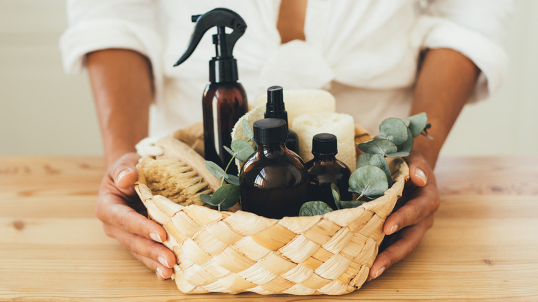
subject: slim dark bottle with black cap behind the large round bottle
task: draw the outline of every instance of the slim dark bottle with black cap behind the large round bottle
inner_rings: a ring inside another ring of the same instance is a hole
[[[267,89],[266,118],[283,119],[288,124],[288,112],[284,106],[284,97],[281,86],[271,86]],[[286,147],[295,153],[299,153],[299,136],[290,129],[288,124],[288,136],[286,137]]]

